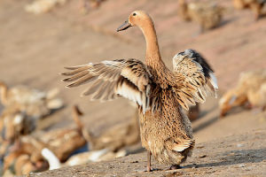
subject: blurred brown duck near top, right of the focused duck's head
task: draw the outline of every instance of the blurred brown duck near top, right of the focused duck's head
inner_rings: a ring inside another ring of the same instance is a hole
[[[178,0],[178,15],[184,21],[200,24],[200,32],[218,27],[223,19],[224,8],[214,2],[190,2]]]

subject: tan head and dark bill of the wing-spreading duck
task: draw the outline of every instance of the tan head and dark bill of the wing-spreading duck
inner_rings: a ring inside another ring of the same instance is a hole
[[[126,20],[120,27],[117,28],[117,32],[128,29],[129,27],[143,28],[145,25],[153,23],[151,17],[144,11],[135,11],[129,15],[129,19]]]

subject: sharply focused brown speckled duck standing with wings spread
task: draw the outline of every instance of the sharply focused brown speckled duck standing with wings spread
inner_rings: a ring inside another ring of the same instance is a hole
[[[129,58],[66,67],[70,72],[62,73],[68,76],[63,81],[72,81],[68,88],[87,84],[89,87],[82,95],[91,95],[92,99],[124,96],[136,102],[141,141],[148,151],[147,171],[152,170],[152,154],[160,163],[177,168],[192,154],[195,143],[183,108],[204,102],[207,91],[217,87],[213,77],[208,77],[211,71],[204,73],[204,65],[186,53],[174,57],[174,73],[168,69],[160,58],[153,20],[146,12],[132,12],[117,31],[134,26],[145,35],[145,63]],[[214,85],[208,90],[211,84]]]

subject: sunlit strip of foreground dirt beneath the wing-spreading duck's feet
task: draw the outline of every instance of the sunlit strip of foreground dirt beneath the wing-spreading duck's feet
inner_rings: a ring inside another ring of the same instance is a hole
[[[30,176],[266,176],[265,136],[265,129],[257,129],[243,135],[199,143],[192,158],[188,158],[184,168],[178,170],[167,170],[168,166],[157,165],[153,161],[153,167],[157,170],[144,172],[146,154],[143,152],[101,163],[31,173]]]

